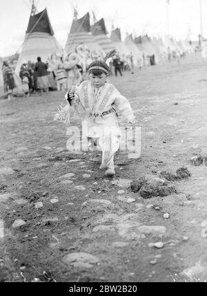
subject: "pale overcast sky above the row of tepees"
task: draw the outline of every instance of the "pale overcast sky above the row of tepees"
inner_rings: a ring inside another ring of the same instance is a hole
[[[204,35],[207,37],[207,0],[202,1]],[[97,19],[104,17],[126,33],[164,35],[167,33],[166,0],[36,0],[37,10],[48,8],[55,37],[65,46],[72,23],[72,4],[79,17],[94,10]],[[191,39],[200,33],[199,0],[170,0],[170,34]],[[30,17],[30,0],[0,0],[0,56],[12,55],[23,43]]]

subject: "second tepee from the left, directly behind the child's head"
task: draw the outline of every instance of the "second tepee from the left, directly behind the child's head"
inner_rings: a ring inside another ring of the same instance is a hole
[[[71,53],[79,46],[79,44],[85,44],[88,49],[102,53],[101,46],[97,43],[92,33],[90,32],[90,14],[86,13],[81,19],[73,19],[70,33],[68,34],[68,40],[66,42],[65,53]]]

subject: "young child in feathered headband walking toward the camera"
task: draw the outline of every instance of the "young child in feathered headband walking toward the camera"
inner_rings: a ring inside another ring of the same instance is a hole
[[[128,124],[135,122],[128,100],[107,80],[110,71],[107,62],[112,55],[115,55],[114,51],[108,53],[104,61],[92,62],[88,67],[89,80],[66,94],[71,106],[81,104],[85,111],[84,124],[88,124],[85,136],[91,145],[98,140],[102,150],[100,169],[106,169],[107,177],[115,176],[114,156],[121,142],[117,112]]]

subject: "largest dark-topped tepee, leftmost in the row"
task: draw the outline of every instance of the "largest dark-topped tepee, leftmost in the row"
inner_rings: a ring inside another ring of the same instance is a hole
[[[41,57],[42,61],[46,62],[52,53],[62,55],[62,49],[55,39],[48,12],[45,9],[36,15],[30,15],[26,37],[15,72],[19,75],[19,70],[24,61],[37,62],[37,57]]]

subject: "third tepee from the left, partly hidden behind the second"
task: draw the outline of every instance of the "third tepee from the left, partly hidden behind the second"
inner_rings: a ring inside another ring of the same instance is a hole
[[[112,41],[107,36],[108,31],[106,29],[104,19],[100,19],[94,25],[92,25],[91,32],[92,35],[95,37],[95,40],[99,43],[105,53],[108,53],[108,51],[115,49]]]

